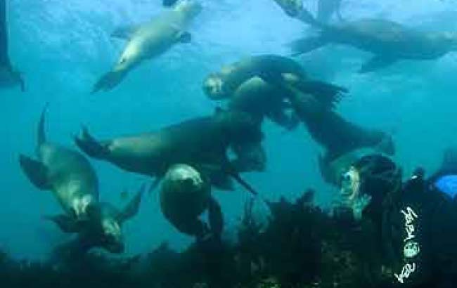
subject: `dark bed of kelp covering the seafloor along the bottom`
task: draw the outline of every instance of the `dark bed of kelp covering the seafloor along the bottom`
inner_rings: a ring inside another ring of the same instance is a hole
[[[210,237],[184,251],[163,243],[143,255],[112,257],[91,251],[54,255],[44,263],[15,261],[0,252],[0,286],[385,287],[378,250],[363,233],[372,231],[335,221],[313,204],[313,195],[309,190],[293,202],[266,202],[271,213],[265,227],[255,221],[251,199],[236,242]]]

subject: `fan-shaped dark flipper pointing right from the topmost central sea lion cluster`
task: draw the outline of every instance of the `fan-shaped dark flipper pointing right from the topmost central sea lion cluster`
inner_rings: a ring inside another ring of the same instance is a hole
[[[316,96],[318,100],[326,107],[333,108],[337,103],[340,102],[344,93],[348,90],[342,86],[336,86],[323,81],[300,81],[297,84],[297,88],[303,93],[309,93]]]

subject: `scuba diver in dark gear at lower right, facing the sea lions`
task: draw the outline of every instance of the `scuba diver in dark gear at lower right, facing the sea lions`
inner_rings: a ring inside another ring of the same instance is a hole
[[[389,287],[455,287],[457,150],[429,178],[416,169],[403,183],[401,174],[388,157],[357,159],[341,176],[335,217],[371,234]]]

